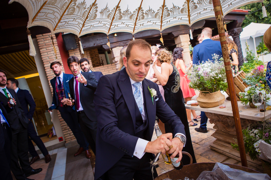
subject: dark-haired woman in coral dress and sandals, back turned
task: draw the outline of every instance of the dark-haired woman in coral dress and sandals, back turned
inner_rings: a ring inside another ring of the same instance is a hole
[[[187,79],[187,77],[185,77],[185,71],[187,71],[188,69],[192,67],[192,63],[189,65],[188,68],[186,68],[184,60],[183,60],[183,49],[181,47],[176,47],[173,50],[172,55],[173,55],[172,62],[173,64],[175,64],[180,74],[180,86],[182,89],[183,97],[185,98],[185,102],[191,101],[192,97],[195,96],[196,94],[195,94],[194,89],[190,88],[188,85],[189,80]],[[192,122],[191,112],[193,114],[194,121],[198,121],[197,119],[200,119],[201,117],[196,115],[195,110],[186,109],[188,124],[191,126],[196,126],[198,124],[195,124],[194,122]]]

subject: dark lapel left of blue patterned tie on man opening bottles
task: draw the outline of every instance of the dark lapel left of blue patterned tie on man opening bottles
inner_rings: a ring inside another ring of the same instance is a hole
[[[126,70],[123,70],[120,72],[120,76],[119,76],[119,79],[117,79],[117,82],[120,87],[120,91],[123,95],[123,98],[127,104],[129,112],[132,116],[134,129],[136,131],[136,110],[135,110],[135,103],[134,103],[135,98],[133,95],[131,81]]]

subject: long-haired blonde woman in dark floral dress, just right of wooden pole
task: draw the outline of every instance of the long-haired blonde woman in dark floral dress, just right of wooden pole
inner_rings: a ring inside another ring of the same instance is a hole
[[[238,47],[235,44],[235,42],[233,40],[231,40],[230,38],[226,38],[227,43],[228,43],[228,49],[229,49],[229,58],[231,60],[231,64],[232,64],[232,69],[234,70],[234,73],[238,73]]]

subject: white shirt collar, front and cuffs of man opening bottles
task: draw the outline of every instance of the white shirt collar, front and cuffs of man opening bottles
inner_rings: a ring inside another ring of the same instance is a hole
[[[129,78],[130,78],[130,77],[129,77]],[[133,83],[135,83],[136,81],[132,80],[131,78],[130,78],[130,81],[131,81],[132,90],[133,90],[133,94],[134,94],[136,88],[134,87]],[[142,103],[142,104],[143,104],[143,109],[142,109],[141,116],[142,116],[143,121],[145,122],[145,120],[146,120],[146,114],[145,114],[145,111],[144,111],[144,99],[143,99],[143,87],[142,87],[142,81],[140,81],[140,84],[141,84],[141,85],[140,85],[141,99],[142,99],[142,101],[143,101],[143,103]],[[185,135],[182,134],[182,133],[176,133],[175,136],[176,136],[176,135],[182,135],[182,136],[185,137]],[[186,137],[185,137],[185,140],[186,140]],[[147,146],[148,142],[149,142],[149,141],[147,141],[147,140],[138,138],[138,140],[137,140],[137,142],[136,142],[136,147],[135,147],[135,151],[134,151],[133,155],[136,156],[137,158],[141,159],[141,158],[145,155],[145,152],[144,152],[144,151],[145,151],[145,149],[146,149],[146,146]],[[184,144],[183,147],[185,147],[185,144]]]

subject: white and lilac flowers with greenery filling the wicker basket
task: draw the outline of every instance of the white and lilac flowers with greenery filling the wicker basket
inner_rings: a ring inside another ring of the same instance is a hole
[[[219,55],[216,54],[212,56],[212,61],[208,59],[209,61],[193,65],[193,68],[188,70],[186,76],[190,80],[190,88],[209,92],[226,91],[228,84],[223,58],[219,59]]]

